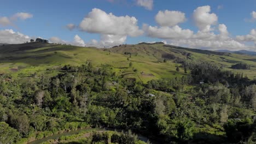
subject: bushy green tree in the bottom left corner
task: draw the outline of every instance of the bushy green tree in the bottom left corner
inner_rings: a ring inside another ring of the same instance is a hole
[[[0,122],[0,143],[8,144],[14,143],[14,141],[18,138],[19,132],[9,127],[9,125],[5,122]]]

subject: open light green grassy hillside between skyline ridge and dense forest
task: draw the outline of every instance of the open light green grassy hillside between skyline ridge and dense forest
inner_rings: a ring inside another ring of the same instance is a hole
[[[132,53],[130,61],[127,61],[129,55],[124,55],[124,52]],[[241,61],[246,62],[252,65],[251,70],[233,71],[235,73],[244,73],[248,77],[254,78],[256,70],[254,59],[256,57],[235,53],[185,49],[164,44],[121,45],[111,49],[40,43],[0,46],[0,72],[10,72],[14,76],[18,76],[20,73],[30,75],[41,73],[42,70],[48,68],[54,69],[65,64],[79,65],[91,60],[94,65],[109,64],[120,75],[147,82],[161,77],[172,78],[185,75],[182,68],[179,72],[176,71],[175,66],[177,64],[173,63],[173,59],[170,59],[167,63],[162,63],[161,61],[166,56],[186,58],[188,53],[190,53],[189,57],[195,61],[217,63],[219,66],[223,65],[224,69],[229,69],[232,64]],[[251,61],[248,61],[248,59]],[[129,67],[130,62],[132,62],[132,67]],[[10,70],[18,67],[18,72]],[[133,68],[137,69],[137,72],[134,72]],[[141,74],[142,71],[144,74]]]

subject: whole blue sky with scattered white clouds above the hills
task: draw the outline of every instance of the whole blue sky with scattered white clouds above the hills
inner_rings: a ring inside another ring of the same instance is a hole
[[[0,43],[256,51],[255,0],[0,0]]]

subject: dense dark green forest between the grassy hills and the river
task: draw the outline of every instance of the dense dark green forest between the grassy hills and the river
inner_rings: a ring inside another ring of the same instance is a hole
[[[255,80],[206,62],[185,61],[179,69],[189,74],[147,83],[90,61],[57,75],[1,74],[0,143],[89,127],[131,130],[160,143],[255,142]],[[133,137],[115,134],[111,141],[136,143]],[[106,139],[95,134],[90,142]]]

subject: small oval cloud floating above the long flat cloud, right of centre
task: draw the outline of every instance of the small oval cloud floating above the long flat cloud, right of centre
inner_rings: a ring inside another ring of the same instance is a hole
[[[155,16],[155,21],[160,26],[175,26],[178,23],[182,23],[186,20],[185,14],[181,11],[159,11]]]

